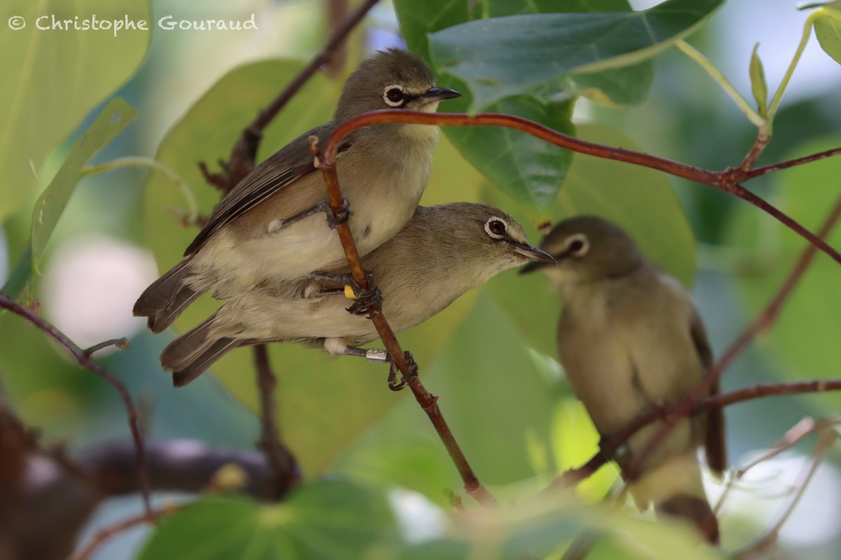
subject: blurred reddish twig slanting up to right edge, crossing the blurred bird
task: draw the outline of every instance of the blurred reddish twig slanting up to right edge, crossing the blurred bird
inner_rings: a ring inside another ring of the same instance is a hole
[[[818,236],[825,238],[835,227],[839,217],[841,217],[841,199],[836,201],[832,211],[829,212],[828,217],[823,222],[823,225],[818,232]],[[748,345],[753,342],[757,335],[759,335],[759,332],[763,332],[774,323],[776,317],[780,313],[780,310],[785,305],[785,302],[788,301],[788,297],[791,296],[791,292],[800,282],[801,278],[809,268],[809,265],[812,264],[816,254],[817,248],[814,245],[807,245],[806,249],[803,250],[794,267],[791,269],[788,277],[780,286],[780,290],[777,291],[776,295],[771,299],[769,304],[765,306],[764,310],[759,313],[759,317],[756,317],[754,322],[730,345],[730,348],[727,348],[727,351],[720,359],[718,359],[717,363],[713,364],[713,366],[707,370],[706,374],[704,374],[704,377],[701,378],[701,381],[696,385],[695,389],[692,390],[690,395],[680,401],[678,406],[675,407],[673,415],[666,419],[664,426],[661,427],[659,431],[656,432],[648,441],[646,447],[643,448],[643,453],[639,453],[637,457],[634,458],[632,465],[626,472],[627,480],[632,481],[639,476],[642,471],[643,462],[646,458],[648,458],[648,455],[652,453],[666,437],[668,437],[669,432],[671,432],[672,429],[674,429],[674,426],[676,426],[677,419],[690,415],[691,411],[695,408],[695,403],[704,399],[706,395],[709,395],[710,388],[717,384],[718,380],[722,377],[722,373],[730,364],[733,363],[733,360],[735,360],[746,348],[748,348]]]

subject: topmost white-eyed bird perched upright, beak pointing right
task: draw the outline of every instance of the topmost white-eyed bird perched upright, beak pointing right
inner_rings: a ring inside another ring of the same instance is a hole
[[[434,113],[438,102],[459,95],[436,87],[421,57],[405,50],[384,50],[364,60],[348,77],[333,120],[301,134],[234,186],[184,259],[146,288],[135,316],[148,317],[151,331],[161,332],[207,290],[227,299],[264,280],[299,280],[339,266],[344,252],[338,235],[325,212],[315,212],[326,188],[309,137],[323,145],[339,124],[360,113],[384,108]],[[436,127],[408,123],[361,128],[342,141],[336,171],[351,205],[349,225],[360,254],[409,221],[437,142]]]

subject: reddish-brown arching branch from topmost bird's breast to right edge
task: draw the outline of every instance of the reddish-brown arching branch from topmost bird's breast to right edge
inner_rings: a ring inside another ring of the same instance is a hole
[[[704,170],[694,165],[686,165],[674,160],[667,160],[656,155],[643,154],[632,149],[615,148],[604,144],[595,144],[586,140],[577,139],[568,134],[559,133],[552,128],[535,123],[527,118],[516,117],[501,113],[477,113],[469,116],[464,113],[424,113],[422,111],[409,111],[406,109],[380,109],[362,113],[356,117],[347,119],[341,123],[324,145],[324,158],[326,161],[336,160],[336,151],[339,148],[341,139],[358,128],[363,128],[377,123],[417,123],[437,124],[443,126],[501,126],[514,128],[531,134],[532,136],[555,144],[562,148],[570,149],[579,154],[593,155],[606,160],[623,161],[634,165],[642,165],[653,170],[664,171],[669,175],[682,177],[689,181],[695,181],[701,185],[711,186],[718,191],[724,191],[738,196],[759,207],[764,212],[791,228],[809,243],[828,254],[838,264],[841,264],[841,254],[830,247],[821,236],[803,228],[799,222],[787,216],[776,207],[772,206],[758,195],[748,191],[741,186],[743,172],[738,169],[727,169],[723,171]]]

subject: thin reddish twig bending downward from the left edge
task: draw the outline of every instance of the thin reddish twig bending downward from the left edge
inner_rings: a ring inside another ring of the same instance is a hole
[[[66,348],[67,352],[71,353],[73,358],[77,360],[80,366],[93,371],[94,374],[97,374],[102,379],[105,379],[105,381],[108,382],[109,385],[111,385],[112,387],[114,387],[114,389],[117,390],[120,399],[123,400],[125,411],[129,416],[129,427],[131,429],[131,437],[132,440],[135,442],[135,451],[137,452],[138,466],[137,476],[138,479],[140,479],[140,494],[143,496],[143,508],[145,510],[146,515],[154,517],[154,513],[151,509],[149,471],[146,468],[143,436],[140,433],[137,409],[135,409],[135,405],[131,400],[129,390],[125,387],[122,381],[117,379],[117,377],[114,374],[109,372],[107,369],[103,368],[97,362],[93,361],[93,359],[91,359],[91,357],[87,355],[85,351],[82,350],[82,348],[79,348],[76,343],[71,341],[70,338],[67,338],[64,332],[58,330],[50,322],[47,322],[44,318],[34,313],[34,311],[30,310],[28,307],[20,305],[19,303],[13,301],[3,293],[0,293],[0,307],[4,307],[5,309],[12,311],[15,315],[23,317],[25,320],[31,322],[35,327],[40,328],[40,330],[44,331],[50,338],[52,338],[57,343],[61,344],[61,346]]]

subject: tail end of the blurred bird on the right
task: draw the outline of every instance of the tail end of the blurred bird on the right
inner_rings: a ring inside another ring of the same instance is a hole
[[[637,505],[653,502],[658,515],[689,521],[707,542],[718,544],[718,521],[706,499],[695,449],[648,468],[630,490]]]

